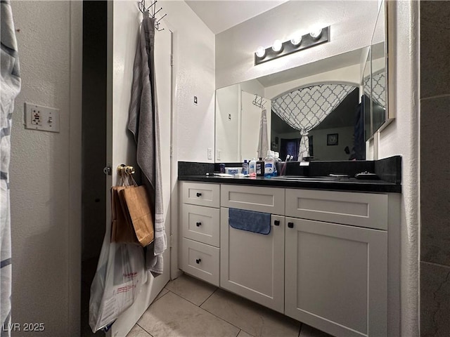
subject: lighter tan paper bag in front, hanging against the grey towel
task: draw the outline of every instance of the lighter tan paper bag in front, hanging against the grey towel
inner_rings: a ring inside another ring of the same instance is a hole
[[[146,187],[125,188],[120,190],[119,195],[124,213],[133,224],[139,243],[143,247],[148,246],[153,242],[155,232]]]

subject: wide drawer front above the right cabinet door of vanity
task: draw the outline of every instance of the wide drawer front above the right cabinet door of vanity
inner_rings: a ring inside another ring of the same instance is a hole
[[[387,230],[387,194],[286,189],[286,216]]]

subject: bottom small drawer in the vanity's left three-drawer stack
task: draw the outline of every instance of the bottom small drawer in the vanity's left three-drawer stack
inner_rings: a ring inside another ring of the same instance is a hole
[[[183,238],[182,269],[189,275],[219,286],[219,249]]]

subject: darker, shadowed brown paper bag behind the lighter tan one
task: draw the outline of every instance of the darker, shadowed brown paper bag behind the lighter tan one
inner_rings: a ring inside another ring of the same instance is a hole
[[[139,244],[139,240],[134,232],[133,224],[124,209],[120,201],[119,192],[128,189],[136,188],[134,186],[114,186],[111,188],[111,242],[127,242],[133,244]]]

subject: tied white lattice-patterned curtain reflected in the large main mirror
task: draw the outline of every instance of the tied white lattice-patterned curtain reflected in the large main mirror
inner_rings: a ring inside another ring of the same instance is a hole
[[[272,110],[278,117],[300,131],[298,160],[309,157],[309,131],[321,124],[355,88],[347,84],[317,84],[285,93],[272,101]]]

